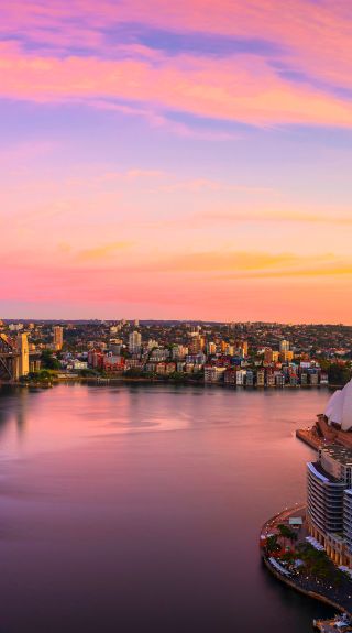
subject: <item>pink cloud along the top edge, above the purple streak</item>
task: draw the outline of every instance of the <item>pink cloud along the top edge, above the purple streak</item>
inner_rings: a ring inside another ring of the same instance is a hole
[[[4,34],[58,47],[79,42],[106,56],[116,44],[106,42],[103,30],[118,24],[266,40],[282,47],[282,59],[292,69],[352,85],[351,7],[344,0],[101,0],[99,8],[94,0],[18,0],[2,7],[1,18]],[[138,54],[153,53],[135,44]]]

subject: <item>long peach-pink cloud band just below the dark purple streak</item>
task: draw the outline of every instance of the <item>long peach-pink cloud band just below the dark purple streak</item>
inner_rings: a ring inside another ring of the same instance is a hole
[[[352,106],[308,87],[290,86],[261,58],[218,62],[183,56],[147,61],[23,56],[0,46],[1,96],[36,101],[127,99],[257,125],[351,127]],[[108,105],[109,107],[109,105]]]

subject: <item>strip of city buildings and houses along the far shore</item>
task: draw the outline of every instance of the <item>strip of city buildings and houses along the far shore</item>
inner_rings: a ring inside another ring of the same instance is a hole
[[[175,380],[234,388],[343,385],[352,328],[195,321],[0,321],[0,380]]]

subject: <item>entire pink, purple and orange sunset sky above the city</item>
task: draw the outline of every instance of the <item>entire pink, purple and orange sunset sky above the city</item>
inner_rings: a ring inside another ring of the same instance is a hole
[[[352,325],[352,3],[0,14],[0,318]]]

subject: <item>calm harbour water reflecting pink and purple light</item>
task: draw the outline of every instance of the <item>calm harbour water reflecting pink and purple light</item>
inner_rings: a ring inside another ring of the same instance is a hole
[[[0,390],[0,633],[304,633],[262,523],[305,498],[328,392]]]

